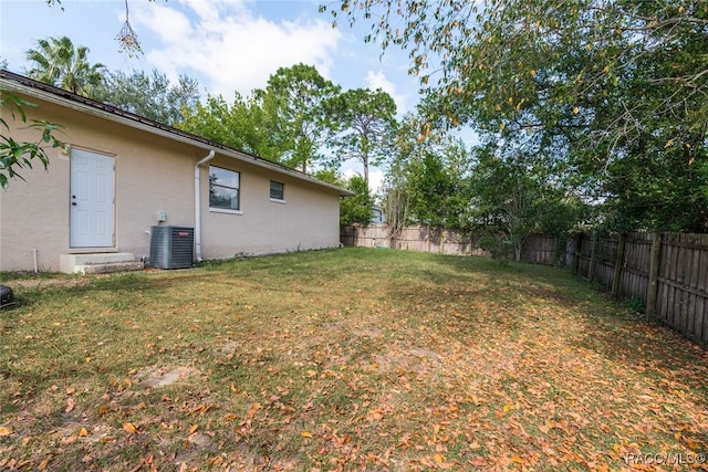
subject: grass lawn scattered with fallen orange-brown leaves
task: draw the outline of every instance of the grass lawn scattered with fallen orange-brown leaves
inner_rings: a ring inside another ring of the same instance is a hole
[[[566,271],[347,248],[3,283],[0,470],[706,468],[706,352]]]

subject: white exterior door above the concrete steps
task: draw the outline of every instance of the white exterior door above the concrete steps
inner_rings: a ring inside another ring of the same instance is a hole
[[[71,150],[72,248],[113,248],[114,172],[112,156]]]

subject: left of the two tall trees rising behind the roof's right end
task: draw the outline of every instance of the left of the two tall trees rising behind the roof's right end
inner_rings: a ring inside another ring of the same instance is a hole
[[[256,91],[271,129],[283,150],[281,161],[303,172],[322,159],[325,139],[323,104],[339,93],[340,87],[326,81],[315,67],[296,64],[280,67],[268,80],[264,91]]]

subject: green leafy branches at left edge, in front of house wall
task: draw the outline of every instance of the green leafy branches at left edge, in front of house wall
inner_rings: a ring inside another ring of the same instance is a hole
[[[44,169],[49,166],[49,156],[44,146],[51,146],[53,148],[62,146],[62,141],[55,136],[58,129],[61,129],[61,125],[55,125],[45,120],[33,119],[27,128],[35,129],[41,134],[41,138],[38,141],[18,141],[10,136],[10,125],[6,120],[6,114],[9,113],[12,120],[20,119],[22,123],[28,123],[24,108],[28,106],[37,106],[33,103],[27,102],[14,93],[0,90],[0,109],[3,111],[0,115],[0,127],[3,128],[2,135],[0,135],[0,188],[7,190],[10,185],[10,179],[19,178],[24,180],[20,175],[19,169],[31,169],[32,161],[39,160]],[[4,135],[8,132],[8,135]]]

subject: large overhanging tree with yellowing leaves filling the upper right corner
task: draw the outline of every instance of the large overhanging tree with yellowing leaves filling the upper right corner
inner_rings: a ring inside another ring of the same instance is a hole
[[[366,40],[409,51],[410,72],[428,93],[429,119],[470,123],[489,140],[566,160],[564,177],[617,208],[627,201],[626,192],[646,196],[642,204],[664,206],[656,182],[626,177],[667,160],[674,170],[663,191],[688,191],[689,200],[705,193],[705,172],[697,169],[707,159],[705,1],[413,0],[400,8],[354,0],[339,6],[332,10],[335,22],[342,15],[371,21]],[[648,160],[639,158],[645,150]],[[679,183],[685,175],[693,176],[693,185]],[[675,210],[636,223],[680,227]]]

